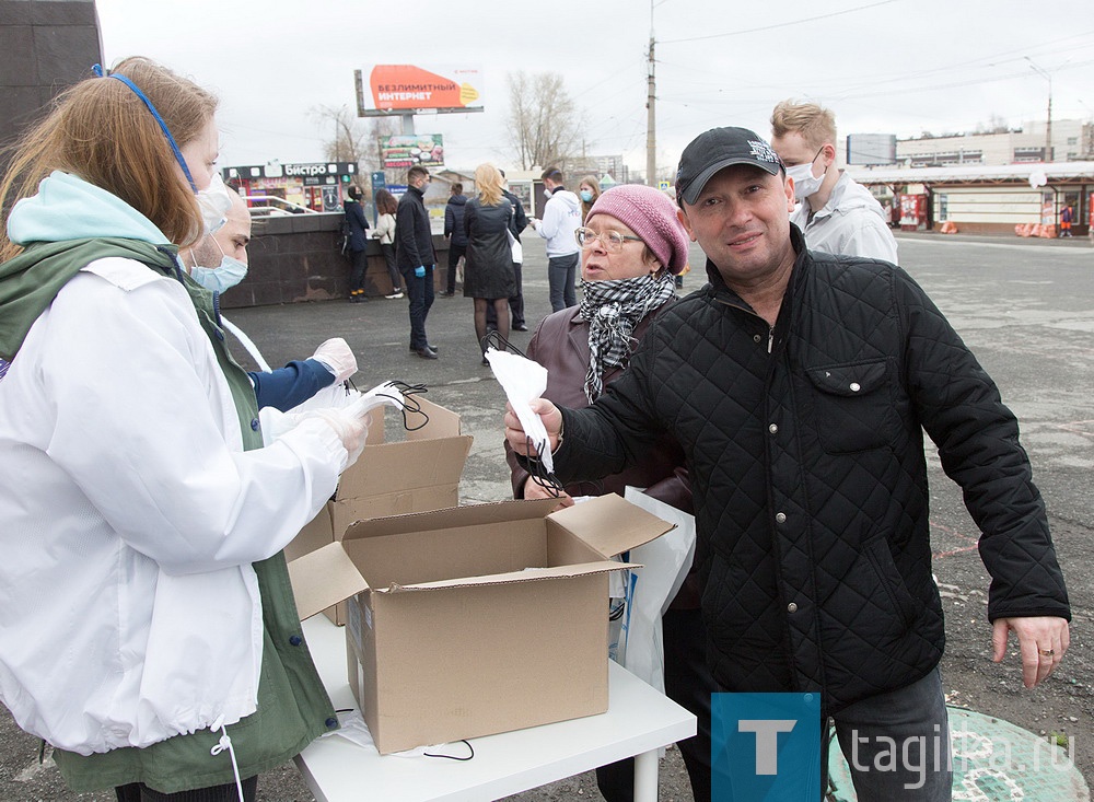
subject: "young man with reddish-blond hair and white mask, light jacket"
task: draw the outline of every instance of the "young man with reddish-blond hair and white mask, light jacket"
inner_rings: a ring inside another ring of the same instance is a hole
[[[836,167],[836,117],[815,103],[783,101],[771,114],[771,148],[794,181],[790,216],[810,251],[897,264],[881,204]]]

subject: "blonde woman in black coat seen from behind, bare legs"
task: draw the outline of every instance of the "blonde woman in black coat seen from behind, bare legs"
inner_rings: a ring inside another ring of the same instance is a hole
[[[510,245],[510,220],[513,205],[502,195],[501,173],[492,164],[475,168],[478,195],[464,211],[467,255],[464,261],[464,297],[475,299],[475,337],[486,359],[486,309],[492,305],[498,318],[498,334],[509,338],[509,298],[515,289],[513,248]]]

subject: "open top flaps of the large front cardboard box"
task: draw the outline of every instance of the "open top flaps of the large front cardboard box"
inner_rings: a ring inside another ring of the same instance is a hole
[[[441,588],[501,584],[516,581],[538,581],[557,577],[601,573],[633,565],[607,560],[617,554],[649,543],[673,528],[673,525],[642,510],[615,493],[600,496],[557,512],[549,510],[555,499],[501,501],[490,504],[455,507],[433,512],[419,512],[358,521],[338,543],[331,543],[289,563],[289,577],[296,596],[296,608],[303,620],[321,611],[369,588],[345,544],[366,537],[475,527],[505,521],[527,521],[546,516],[548,526],[560,526],[582,539],[605,560],[552,568],[538,568],[535,573],[510,571],[482,577],[454,578],[443,581],[399,585],[398,590],[437,590]]]

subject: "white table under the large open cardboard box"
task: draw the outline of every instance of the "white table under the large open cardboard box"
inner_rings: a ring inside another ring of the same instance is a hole
[[[356,708],[344,630],[322,615],[303,628],[335,707]],[[695,716],[626,669],[608,665],[606,713],[473,739],[470,760],[380,755],[328,735],[304,749],[296,766],[319,802],[482,802],[635,757],[635,800],[656,802],[657,752],[694,735]]]

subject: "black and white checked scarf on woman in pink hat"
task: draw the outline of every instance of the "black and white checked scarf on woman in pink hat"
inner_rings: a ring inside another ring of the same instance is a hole
[[[585,398],[592,404],[604,392],[604,371],[627,364],[637,345],[635,327],[676,294],[676,281],[664,270],[660,276],[582,281],[581,291],[580,314],[589,321]]]

